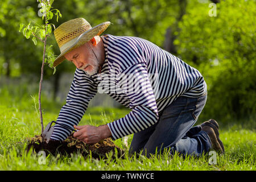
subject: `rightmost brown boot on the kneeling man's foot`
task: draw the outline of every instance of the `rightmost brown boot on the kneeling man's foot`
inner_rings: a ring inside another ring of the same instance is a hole
[[[220,140],[220,134],[218,133],[218,123],[214,119],[209,119],[201,124],[202,130],[205,131],[212,143],[213,150],[223,154],[225,152],[223,143]]]

